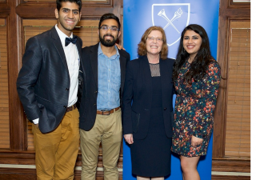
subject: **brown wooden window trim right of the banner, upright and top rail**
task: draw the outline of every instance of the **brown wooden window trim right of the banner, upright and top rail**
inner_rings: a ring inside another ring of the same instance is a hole
[[[218,54],[217,59],[222,67],[222,78],[227,78],[228,39],[230,19],[250,19],[250,4],[234,6],[232,0],[220,0],[218,21]],[[214,114],[214,148],[213,158],[225,156],[226,132],[226,79],[222,79],[218,93],[218,101]]]

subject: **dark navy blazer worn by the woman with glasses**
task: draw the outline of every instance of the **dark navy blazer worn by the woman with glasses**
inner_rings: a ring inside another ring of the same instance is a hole
[[[174,59],[160,59],[160,74],[162,82],[162,114],[166,136],[172,137],[173,82],[172,72]],[[122,115],[123,134],[133,134],[134,138],[146,138],[152,97],[152,82],[150,65],[146,56],[128,62],[126,81],[123,92]],[[131,104],[132,103],[132,104]]]

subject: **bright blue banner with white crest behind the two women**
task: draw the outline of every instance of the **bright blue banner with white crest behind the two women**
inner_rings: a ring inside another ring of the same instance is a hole
[[[182,30],[189,24],[205,28],[210,38],[210,50],[217,56],[219,0],[123,0],[123,42],[131,59],[138,58],[138,43],[150,26],[162,26],[169,46],[168,58],[175,58]],[[212,137],[207,155],[198,163],[201,179],[211,179]],[[123,180],[133,180],[130,147],[123,142]],[[171,157],[171,174],[166,179],[182,180],[177,154]]]

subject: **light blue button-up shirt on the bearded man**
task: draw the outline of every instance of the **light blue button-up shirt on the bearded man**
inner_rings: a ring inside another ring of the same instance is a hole
[[[98,45],[98,97],[97,110],[111,110],[120,106],[119,90],[121,87],[120,55],[108,58]]]

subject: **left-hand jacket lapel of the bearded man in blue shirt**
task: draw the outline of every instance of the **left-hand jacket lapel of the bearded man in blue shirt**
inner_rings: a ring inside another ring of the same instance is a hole
[[[94,81],[98,87],[98,44],[90,49],[90,65],[94,74]]]

